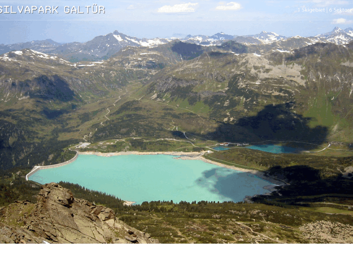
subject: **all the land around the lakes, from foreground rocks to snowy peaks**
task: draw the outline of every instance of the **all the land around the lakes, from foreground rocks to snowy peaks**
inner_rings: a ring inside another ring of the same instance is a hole
[[[352,28],[179,39],[114,31],[85,43],[0,45],[0,53],[1,242],[353,242]],[[206,153],[282,184],[247,203],[127,206],[80,186],[25,180],[34,166],[72,158],[80,142],[80,152]],[[224,142],[230,149],[211,148]],[[48,217],[55,210],[62,216]],[[69,235],[57,227],[66,217]],[[101,236],[90,234],[97,225],[107,226]]]

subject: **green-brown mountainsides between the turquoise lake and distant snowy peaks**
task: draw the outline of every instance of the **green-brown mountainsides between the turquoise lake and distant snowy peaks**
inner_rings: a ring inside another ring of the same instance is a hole
[[[0,56],[1,166],[55,163],[61,146],[88,138],[183,138],[169,130],[171,120],[208,140],[351,143],[352,43],[259,49],[174,40],[125,47],[100,62],[7,52]]]

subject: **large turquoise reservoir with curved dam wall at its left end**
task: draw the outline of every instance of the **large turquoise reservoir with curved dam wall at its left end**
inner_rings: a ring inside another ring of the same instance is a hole
[[[171,155],[79,155],[68,165],[40,170],[29,179],[40,184],[70,182],[114,194],[126,201],[234,201],[264,194],[271,183],[242,171]]]

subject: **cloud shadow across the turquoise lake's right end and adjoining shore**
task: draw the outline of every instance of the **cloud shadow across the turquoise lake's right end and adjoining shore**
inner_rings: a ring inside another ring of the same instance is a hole
[[[290,185],[270,186],[250,172],[234,171],[224,173],[226,169],[217,168],[203,171],[202,176],[195,182],[211,193],[227,197],[234,202],[242,201],[246,196],[252,197],[253,202],[275,204],[276,202],[319,202],[325,201],[325,196],[340,197],[352,195],[353,180],[340,177],[322,178],[318,169],[310,166],[290,166],[282,168],[276,166],[267,172],[272,176],[289,182]],[[271,179],[269,178],[269,181]],[[267,191],[263,189],[266,186]],[[274,191],[271,194],[264,194]],[[261,195],[262,193],[262,195]],[[316,197],[322,195],[322,197]]]

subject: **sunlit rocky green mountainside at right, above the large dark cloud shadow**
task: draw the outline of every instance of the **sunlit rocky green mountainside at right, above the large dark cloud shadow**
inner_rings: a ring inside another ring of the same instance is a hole
[[[149,84],[148,96],[144,98],[157,94],[156,98],[169,106],[179,106],[231,124],[237,124],[241,117],[256,116],[270,104],[292,101],[294,107],[289,111],[296,113],[302,124],[311,129],[327,129],[327,135],[322,135],[327,140],[351,142],[351,74],[350,67],[341,63],[350,60],[352,52],[331,46],[316,45],[316,50],[310,52],[303,48],[298,51],[300,56],[293,58],[283,54],[252,58],[243,54],[223,56],[220,60],[219,57],[202,54],[161,71]],[[278,62],[275,56],[281,56]],[[287,73],[283,73],[284,70]],[[292,75],[288,75],[293,77],[289,79],[279,77],[288,73],[298,75],[298,78]],[[322,77],[327,75],[329,77]],[[223,95],[204,97],[204,92]],[[198,93],[201,98],[195,95]],[[288,120],[288,124],[290,121],[298,119]],[[297,135],[301,133],[300,130],[294,132]]]

